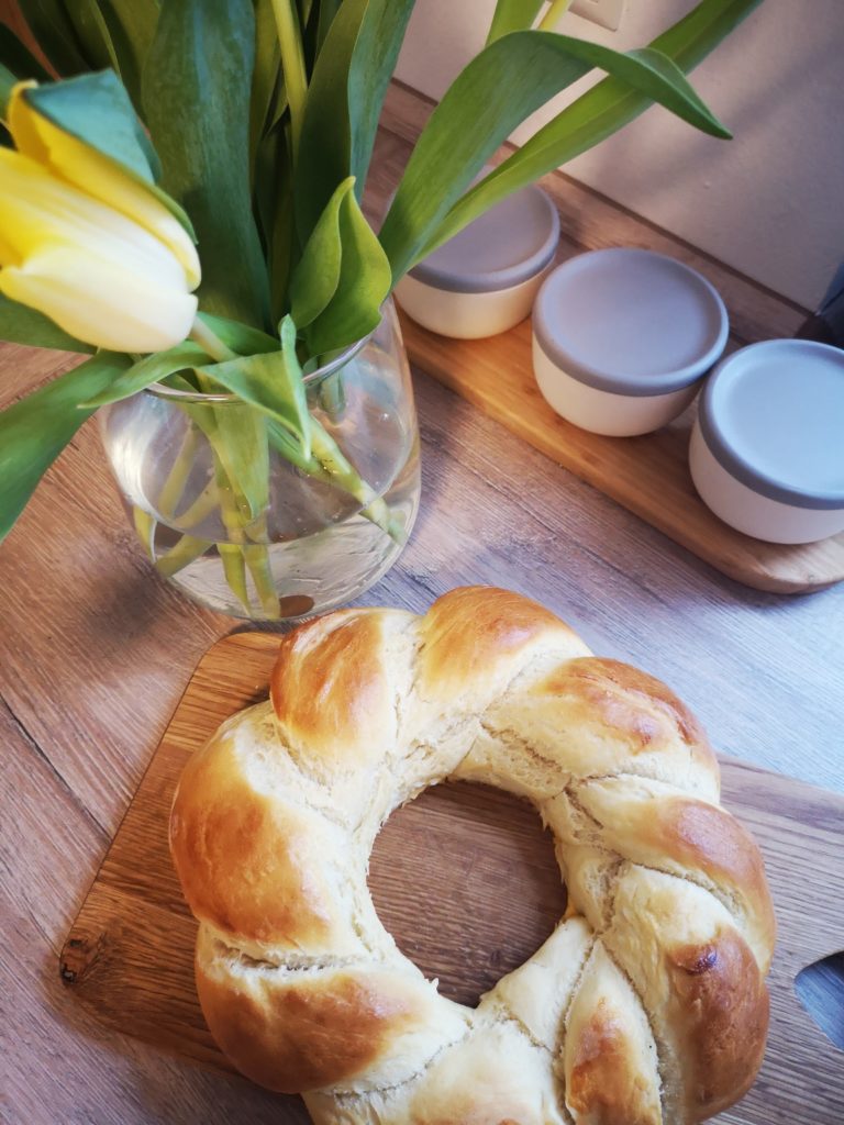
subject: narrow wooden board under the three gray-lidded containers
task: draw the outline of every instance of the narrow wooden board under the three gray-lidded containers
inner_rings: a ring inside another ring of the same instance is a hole
[[[776,594],[809,593],[844,578],[844,533],[783,547],[734,531],[709,511],[689,472],[694,407],[653,434],[602,438],[566,422],[542,398],[530,321],[486,340],[450,340],[402,314],[402,331],[423,371],[728,577]]]

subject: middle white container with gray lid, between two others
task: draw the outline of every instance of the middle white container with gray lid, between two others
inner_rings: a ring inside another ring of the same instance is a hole
[[[594,250],[548,274],[533,306],[533,371],[564,418],[649,433],[694,398],[727,342],[727,310],[695,270],[649,250]]]

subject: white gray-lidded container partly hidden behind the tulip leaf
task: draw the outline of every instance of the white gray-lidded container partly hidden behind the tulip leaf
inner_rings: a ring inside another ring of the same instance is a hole
[[[558,242],[557,208],[540,188],[523,188],[415,266],[396,299],[443,336],[505,332],[530,314]]]

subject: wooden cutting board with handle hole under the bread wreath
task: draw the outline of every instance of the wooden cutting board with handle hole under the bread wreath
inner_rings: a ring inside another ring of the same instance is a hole
[[[179,773],[234,711],[267,694],[278,637],[236,633],[200,662],[64,945],[61,972],[115,1030],[227,1070],[194,990],[196,924],[167,843]],[[720,1125],[841,1125],[844,1053],[798,1001],[797,973],[844,948],[844,798],[726,759],[727,806],[762,845],[780,925],[762,1073]],[[473,785],[431,789],[378,838],[376,906],[443,992],[474,1004],[550,933],[565,896],[550,838],[524,802]],[[304,1123],[279,1096],[278,1120]]]

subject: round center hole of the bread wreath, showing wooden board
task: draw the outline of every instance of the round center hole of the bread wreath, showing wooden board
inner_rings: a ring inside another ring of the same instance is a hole
[[[566,908],[554,839],[527,801],[488,785],[425,790],[376,838],[369,889],[398,948],[473,1008],[535,953]]]

